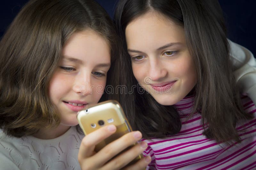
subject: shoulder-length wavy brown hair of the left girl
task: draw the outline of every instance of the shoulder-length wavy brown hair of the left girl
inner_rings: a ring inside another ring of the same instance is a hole
[[[21,137],[45,125],[60,124],[48,97],[49,82],[64,43],[72,33],[86,29],[108,41],[113,63],[119,56],[117,34],[107,12],[96,2],[31,0],[19,12],[0,42],[0,126],[4,132]]]

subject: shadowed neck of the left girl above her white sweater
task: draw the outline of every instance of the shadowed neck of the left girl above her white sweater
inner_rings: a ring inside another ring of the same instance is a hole
[[[42,128],[32,136],[39,139],[53,139],[66,133],[70,127],[71,126],[65,126],[60,124],[58,127],[55,128]]]

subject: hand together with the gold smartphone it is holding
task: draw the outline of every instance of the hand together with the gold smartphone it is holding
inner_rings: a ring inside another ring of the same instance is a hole
[[[107,101],[89,107],[78,112],[77,119],[86,135],[78,154],[82,169],[120,169],[127,164],[131,165],[129,168],[144,169],[150,162],[150,157],[140,159],[147,144],[135,145],[141,133],[131,132],[118,102]]]

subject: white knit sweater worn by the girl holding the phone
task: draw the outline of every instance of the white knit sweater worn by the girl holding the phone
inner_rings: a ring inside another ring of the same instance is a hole
[[[0,169],[81,169],[77,155],[83,137],[75,126],[49,140],[6,137],[0,130]]]

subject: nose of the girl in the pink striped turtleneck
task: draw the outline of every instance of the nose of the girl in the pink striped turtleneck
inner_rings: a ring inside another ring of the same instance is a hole
[[[167,75],[167,69],[159,58],[149,60],[149,77],[152,81],[159,81]]]

